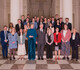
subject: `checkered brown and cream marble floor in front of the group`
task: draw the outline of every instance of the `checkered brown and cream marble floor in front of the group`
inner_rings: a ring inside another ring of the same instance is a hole
[[[80,70],[80,60],[3,60],[0,56],[0,70]]]

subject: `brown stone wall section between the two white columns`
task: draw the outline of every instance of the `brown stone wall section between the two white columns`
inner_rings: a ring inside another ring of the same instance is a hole
[[[24,14],[26,13],[32,17],[35,15],[54,16],[55,13],[59,13],[59,0],[24,0]]]

